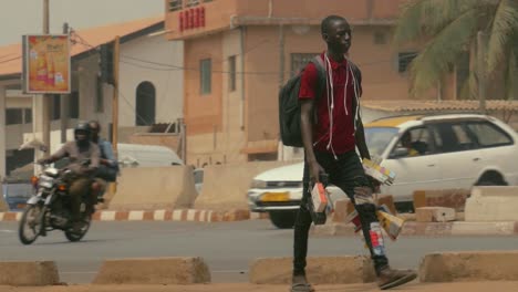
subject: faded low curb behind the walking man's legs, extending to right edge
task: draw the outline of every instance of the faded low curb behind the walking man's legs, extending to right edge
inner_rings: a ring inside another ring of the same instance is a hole
[[[351,223],[329,223],[313,226],[311,233],[315,236],[354,236]],[[360,232],[358,233],[360,234]],[[427,236],[518,236],[518,221],[495,222],[405,222],[402,237]]]

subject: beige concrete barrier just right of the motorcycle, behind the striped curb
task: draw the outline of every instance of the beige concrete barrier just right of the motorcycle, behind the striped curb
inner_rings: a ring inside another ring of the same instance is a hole
[[[190,208],[196,196],[188,166],[123,168],[110,209]]]

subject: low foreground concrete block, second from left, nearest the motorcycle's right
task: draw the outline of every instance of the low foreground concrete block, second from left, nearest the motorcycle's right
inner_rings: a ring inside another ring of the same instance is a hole
[[[195,284],[210,282],[201,258],[143,258],[104,261],[94,284]]]

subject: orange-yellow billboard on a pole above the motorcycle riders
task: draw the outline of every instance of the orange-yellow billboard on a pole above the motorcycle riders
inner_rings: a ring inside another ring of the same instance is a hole
[[[66,34],[23,35],[23,91],[68,94],[71,86]]]

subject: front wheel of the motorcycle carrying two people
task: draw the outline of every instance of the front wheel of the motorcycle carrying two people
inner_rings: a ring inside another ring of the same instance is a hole
[[[43,229],[44,211],[39,205],[29,205],[23,211],[18,229],[18,236],[23,244],[31,244]]]

